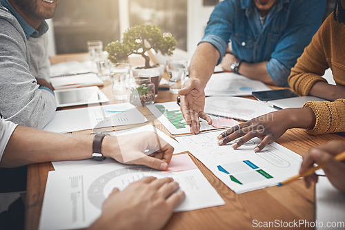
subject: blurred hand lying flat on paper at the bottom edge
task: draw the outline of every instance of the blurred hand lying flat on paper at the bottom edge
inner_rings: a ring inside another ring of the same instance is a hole
[[[161,229],[184,200],[184,191],[177,189],[172,178],[154,177],[133,182],[124,191],[115,188],[90,229]]]

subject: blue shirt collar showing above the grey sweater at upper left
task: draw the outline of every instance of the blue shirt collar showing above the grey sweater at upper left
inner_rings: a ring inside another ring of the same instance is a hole
[[[23,28],[26,38],[29,36],[32,36],[33,38],[39,38],[43,34],[45,34],[49,27],[46,21],[42,21],[41,25],[39,25],[39,28],[37,30],[34,30],[31,25],[29,25],[23,17],[13,8],[13,6],[8,2],[8,0],[0,0],[0,4],[4,7],[6,7],[11,14],[18,20],[19,24],[21,25],[21,28]]]

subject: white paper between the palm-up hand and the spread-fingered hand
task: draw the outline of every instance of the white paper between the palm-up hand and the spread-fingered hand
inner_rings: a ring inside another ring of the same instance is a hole
[[[277,109],[273,109],[266,102],[235,96],[208,96],[205,99],[204,108],[206,114],[225,116],[243,121],[275,111]]]

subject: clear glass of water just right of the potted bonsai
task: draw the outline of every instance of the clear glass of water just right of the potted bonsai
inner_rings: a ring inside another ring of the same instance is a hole
[[[186,82],[188,72],[188,61],[168,60],[166,71],[169,77],[169,90],[172,94],[178,94],[181,86]]]

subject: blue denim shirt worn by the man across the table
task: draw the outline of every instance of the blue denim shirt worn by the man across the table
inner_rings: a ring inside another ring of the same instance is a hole
[[[213,10],[200,43],[217,48],[219,64],[231,40],[237,59],[268,61],[270,78],[278,86],[288,86],[290,68],[311,43],[325,8],[326,0],[277,0],[262,26],[253,0],[225,0]]]

